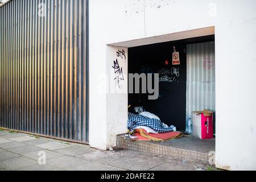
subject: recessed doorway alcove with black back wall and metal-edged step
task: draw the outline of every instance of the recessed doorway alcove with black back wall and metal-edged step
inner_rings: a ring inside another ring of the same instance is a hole
[[[148,100],[147,93],[129,93],[129,113],[135,113],[134,107],[142,106],[144,111],[157,115],[162,122],[168,126],[174,125],[177,131],[182,132],[186,130],[187,118],[191,118],[193,111],[208,109],[215,114],[214,27],[213,34],[209,34],[208,30],[179,32],[176,35],[112,45],[128,47],[128,73],[159,74],[159,98]],[[205,35],[202,36],[202,32]],[[167,39],[164,40],[164,37]],[[179,52],[179,65],[172,64],[174,47]],[[215,151],[215,138],[202,140],[183,137],[165,142],[134,142],[125,134],[117,137],[117,146],[160,155],[208,160],[209,152]]]

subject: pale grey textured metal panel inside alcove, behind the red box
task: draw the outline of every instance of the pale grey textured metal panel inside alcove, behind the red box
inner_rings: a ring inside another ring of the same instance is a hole
[[[187,45],[187,118],[204,109],[215,111],[214,42]]]

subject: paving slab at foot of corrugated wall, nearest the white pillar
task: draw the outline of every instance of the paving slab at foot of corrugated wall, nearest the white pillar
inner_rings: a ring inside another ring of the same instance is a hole
[[[71,156],[76,156],[76,155],[81,155],[81,154],[86,154],[92,151],[95,151],[95,149],[90,148],[89,146],[68,146],[68,147],[64,147],[64,148],[59,148],[56,150],[53,150],[55,152],[61,153],[61,154],[65,154],[65,155],[71,155]]]

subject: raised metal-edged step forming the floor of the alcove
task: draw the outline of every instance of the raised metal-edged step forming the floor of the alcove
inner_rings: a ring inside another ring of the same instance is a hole
[[[124,134],[117,136],[117,148],[208,161],[209,152],[215,151],[215,139],[201,140],[196,137],[182,137],[164,142],[152,142],[134,141],[129,135]]]

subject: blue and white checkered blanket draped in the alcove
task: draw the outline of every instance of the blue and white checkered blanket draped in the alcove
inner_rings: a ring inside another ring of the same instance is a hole
[[[163,123],[158,119],[150,119],[143,115],[128,113],[127,127],[134,131],[138,126],[147,126],[158,133],[169,133],[174,131],[174,126],[164,128]]]

